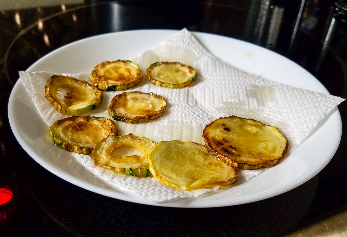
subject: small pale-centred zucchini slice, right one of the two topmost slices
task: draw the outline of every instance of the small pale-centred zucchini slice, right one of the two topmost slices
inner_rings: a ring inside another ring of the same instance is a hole
[[[147,77],[157,86],[186,87],[196,80],[196,71],[179,62],[156,62],[147,69]]]

